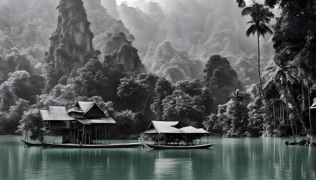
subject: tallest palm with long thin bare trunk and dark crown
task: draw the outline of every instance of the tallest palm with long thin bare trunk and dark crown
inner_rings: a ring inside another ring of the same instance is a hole
[[[261,83],[261,75],[260,75],[260,48],[259,48],[259,37],[260,35],[265,38],[265,34],[269,33],[272,34],[273,32],[271,29],[266,25],[270,23],[271,18],[274,18],[274,14],[269,11],[269,8],[265,7],[264,5],[258,4],[253,2],[253,5],[244,8],[241,11],[242,16],[249,15],[251,17],[251,21],[248,21],[247,24],[251,24],[251,26],[247,29],[246,35],[249,37],[251,34],[257,34],[258,39],[258,73],[259,73],[259,82],[260,82],[260,90],[262,97],[265,100],[265,103],[269,110],[271,108],[267,103],[267,100],[264,95],[264,91],[262,91],[262,83]]]

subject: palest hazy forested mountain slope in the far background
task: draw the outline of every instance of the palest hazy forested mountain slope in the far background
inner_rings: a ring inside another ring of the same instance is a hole
[[[168,73],[157,72],[157,69],[166,68],[166,64],[162,63],[164,61],[175,61],[179,56],[182,58],[179,53],[174,54],[172,48],[166,48],[161,52],[161,60],[152,63],[152,59],[158,59],[153,49],[156,47],[156,51],[159,51],[166,47],[161,43],[168,41],[170,46],[181,49],[181,54],[185,53],[187,58],[194,59],[192,65],[191,61],[180,58],[185,66],[193,66],[191,73],[186,68],[173,67],[182,80],[203,80],[202,74],[199,74],[201,65],[203,68],[210,55],[219,54],[227,57],[244,83],[250,85],[256,82],[257,79],[254,79],[251,72],[245,76],[245,73],[256,66],[255,62],[250,60],[242,66],[238,63],[240,58],[248,61],[248,58],[254,57],[257,49],[255,38],[245,38],[245,22],[248,19],[240,16],[240,9],[234,1],[161,0],[143,3],[139,4],[140,8],[123,3],[118,6],[118,10],[126,27],[134,34],[134,45],[150,72],[168,78]],[[260,49],[261,67],[264,70],[274,55],[271,36],[261,39]]]

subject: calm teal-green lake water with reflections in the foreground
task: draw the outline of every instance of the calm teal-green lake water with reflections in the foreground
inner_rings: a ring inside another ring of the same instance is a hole
[[[24,148],[20,139],[24,137],[0,136],[0,179],[315,179],[316,176],[316,147],[286,146],[285,138],[210,137],[209,142],[216,144],[212,148],[192,150]]]

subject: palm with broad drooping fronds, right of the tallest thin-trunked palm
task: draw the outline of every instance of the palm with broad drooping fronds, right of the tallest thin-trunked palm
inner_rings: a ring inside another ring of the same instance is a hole
[[[283,88],[285,99],[286,99],[286,114],[287,114],[287,120],[288,120],[289,109],[288,109],[287,91],[291,93],[289,84],[293,84],[294,82],[298,81],[298,76],[295,73],[297,71],[297,67],[294,65],[289,65],[288,62],[285,64],[282,63],[282,61],[279,62],[279,61],[274,60],[274,62],[276,66],[267,67],[265,70],[264,76],[267,76],[267,79],[266,79],[267,81],[264,84],[264,88],[270,86],[271,84],[274,84],[279,89],[279,91]],[[293,100],[294,100],[294,97],[293,97]],[[295,105],[295,108],[297,109],[295,101],[294,101],[294,105]],[[297,113],[298,113],[298,117],[300,118],[299,112]],[[294,133],[294,127],[293,127],[292,121],[291,121],[291,128],[293,132],[294,141],[296,142],[296,136]]]

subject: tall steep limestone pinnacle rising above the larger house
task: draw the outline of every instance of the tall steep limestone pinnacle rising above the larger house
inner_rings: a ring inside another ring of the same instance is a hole
[[[57,10],[58,26],[49,38],[49,51],[44,57],[46,79],[56,78],[47,79],[50,88],[60,76],[68,76],[75,66],[82,67],[94,54],[93,33],[82,0],[61,0]]]

